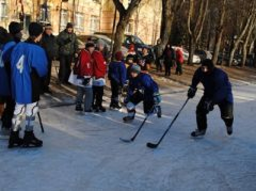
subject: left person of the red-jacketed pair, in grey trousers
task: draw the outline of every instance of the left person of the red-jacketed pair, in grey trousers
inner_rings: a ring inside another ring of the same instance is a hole
[[[77,74],[77,96],[76,96],[76,111],[83,111],[82,100],[84,99],[84,111],[92,112],[92,77],[93,77],[93,61],[92,53],[94,44],[87,43],[86,49],[79,53],[78,61],[74,66],[74,74]]]

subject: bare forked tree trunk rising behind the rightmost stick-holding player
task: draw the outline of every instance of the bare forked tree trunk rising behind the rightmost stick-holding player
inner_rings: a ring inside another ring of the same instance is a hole
[[[195,46],[202,34],[204,21],[208,10],[209,0],[201,0],[198,14],[196,3],[194,0],[189,0],[189,13],[188,13],[188,32],[189,32],[189,59],[188,64],[193,64],[193,54]]]

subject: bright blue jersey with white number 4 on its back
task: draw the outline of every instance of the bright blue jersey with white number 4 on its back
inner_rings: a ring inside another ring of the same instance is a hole
[[[16,103],[39,101],[41,77],[47,74],[47,57],[34,42],[20,42],[11,54],[12,95]]]

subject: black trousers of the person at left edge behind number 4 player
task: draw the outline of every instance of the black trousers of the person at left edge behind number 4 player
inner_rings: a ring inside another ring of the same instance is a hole
[[[6,96],[6,106],[2,115],[2,124],[5,128],[12,127],[12,118],[15,109],[15,101],[12,99],[11,96]]]

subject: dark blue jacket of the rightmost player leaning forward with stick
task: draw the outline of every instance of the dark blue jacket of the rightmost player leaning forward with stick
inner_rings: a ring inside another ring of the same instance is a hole
[[[214,104],[224,100],[233,103],[231,83],[223,70],[215,67],[212,73],[205,74],[198,68],[193,76],[191,87],[196,88],[200,82],[204,86],[204,96]]]

